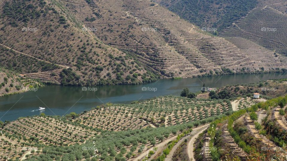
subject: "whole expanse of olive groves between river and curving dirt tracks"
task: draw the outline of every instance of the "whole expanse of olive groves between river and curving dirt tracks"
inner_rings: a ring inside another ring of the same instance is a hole
[[[185,135],[186,130],[194,126],[201,129],[201,125],[221,117],[222,113],[230,113],[230,110],[229,100],[164,96],[129,105],[108,103],[80,116],[71,113],[65,117],[19,118],[11,123],[6,122],[1,129],[3,137],[7,139],[3,140],[5,145],[1,151],[11,159],[93,159],[94,142],[100,160],[144,159],[146,154],[155,153],[153,149],[157,147],[156,155],[150,154],[147,159],[155,158],[161,155],[170,141],[177,139],[178,134]],[[167,121],[168,127],[160,127],[165,125],[165,117],[171,118],[171,121]],[[15,149],[11,146],[15,146]],[[36,150],[32,151],[31,148],[39,151],[35,153]],[[53,152],[56,149],[57,154]],[[172,154],[175,150],[171,149]],[[68,154],[67,151],[71,152]]]

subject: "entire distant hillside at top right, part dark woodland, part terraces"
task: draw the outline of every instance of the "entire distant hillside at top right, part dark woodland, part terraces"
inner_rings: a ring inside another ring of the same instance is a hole
[[[236,46],[233,39],[241,37],[286,55],[285,0],[155,2],[200,27],[216,28]]]

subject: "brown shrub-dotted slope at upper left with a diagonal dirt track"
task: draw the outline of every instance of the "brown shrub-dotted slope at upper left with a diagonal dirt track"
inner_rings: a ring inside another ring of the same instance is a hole
[[[14,49],[9,52],[14,57],[31,59],[17,72],[33,78],[45,76],[44,81],[63,85],[136,84],[156,80],[154,74],[130,55],[103,44],[89,30],[83,30],[82,24],[59,1],[9,0],[0,5],[1,47]],[[9,55],[1,57],[6,60],[4,66],[15,61]],[[25,64],[25,59],[19,59],[18,64]],[[39,61],[56,65],[45,70],[31,69]]]

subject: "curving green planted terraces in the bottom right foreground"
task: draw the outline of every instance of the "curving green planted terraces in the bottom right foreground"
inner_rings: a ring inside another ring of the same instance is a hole
[[[286,131],[274,120],[274,107],[286,105],[286,96],[257,103],[211,123],[209,154],[213,159],[286,160]],[[271,112],[270,112],[271,111]],[[271,119],[271,120],[270,120]]]

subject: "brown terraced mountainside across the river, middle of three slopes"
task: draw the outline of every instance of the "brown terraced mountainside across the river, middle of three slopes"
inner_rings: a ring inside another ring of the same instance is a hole
[[[111,6],[110,1],[94,1],[93,5],[86,5],[84,0],[62,3],[74,10],[75,16],[104,43],[136,55],[143,64],[166,77],[241,72],[243,66],[247,69],[244,72],[284,66],[281,57],[270,51],[261,57],[249,48],[243,52],[150,1],[117,1],[121,4],[117,7]],[[261,52],[259,48],[255,50]]]

